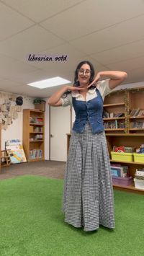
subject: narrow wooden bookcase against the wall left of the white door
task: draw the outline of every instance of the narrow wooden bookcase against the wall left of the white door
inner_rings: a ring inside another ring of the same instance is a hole
[[[45,159],[45,112],[23,110],[23,147],[28,162]]]

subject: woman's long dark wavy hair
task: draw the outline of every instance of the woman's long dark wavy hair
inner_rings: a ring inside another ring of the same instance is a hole
[[[89,79],[89,84],[94,80],[94,66],[91,64],[90,61],[81,61],[80,63],[78,63],[78,66],[76,67],[76,71],[75,71],[75,78],[74,78],[74,84],[73,84],[73,87],[79,87],[79,81],[78,81],[78,69],[81,69],[81,66],[83,66],[84,64],[88,64],[90,66],[90,69],[91,69],[91,76],[90,76],[90,79]],[[89,89],[94,89],[95,86],[91,85],[91,87],[89,87]],[[71,91],[66,91],[64,94],[63,94],[63,98],[65,98],[69,93],[71,93]]]

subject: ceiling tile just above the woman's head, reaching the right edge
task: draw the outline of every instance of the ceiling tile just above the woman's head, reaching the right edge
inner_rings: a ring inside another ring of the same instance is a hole
[[[128,31],[132,31],[129,33]],[[144,38],[144,15],[122,22],[99,32],[94,32],[83,38],[71,41],[71,44],[87,54],[99,53],[117,48],[135,40]]]

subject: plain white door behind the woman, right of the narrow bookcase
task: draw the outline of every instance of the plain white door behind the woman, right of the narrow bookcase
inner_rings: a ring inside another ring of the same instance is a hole
[[[50,107],[50,160],[66,162],[71,107]]]

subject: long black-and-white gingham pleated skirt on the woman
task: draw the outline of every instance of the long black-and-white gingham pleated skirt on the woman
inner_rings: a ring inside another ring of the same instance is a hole
[[[63,188],[65,221],[84,231],[114,229],[114,200],[105,133],[72,131]]]

